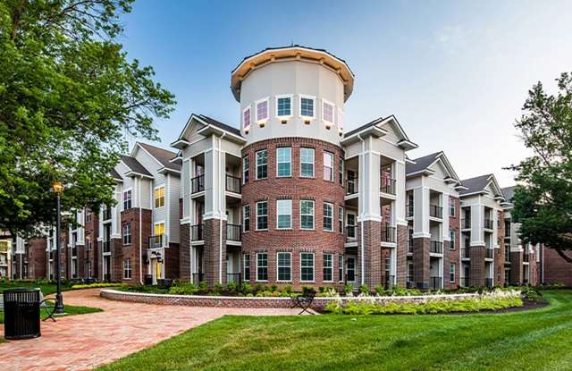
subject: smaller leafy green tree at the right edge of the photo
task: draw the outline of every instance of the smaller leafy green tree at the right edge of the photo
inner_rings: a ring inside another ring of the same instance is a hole
[[[538,82],[528,92],[516,127],[533,150],[520,164],[511,213],[520,223],[523,242],[543,243],[568,263],[572,249],[572,74],[557,79],[558,94],[548,95]]]

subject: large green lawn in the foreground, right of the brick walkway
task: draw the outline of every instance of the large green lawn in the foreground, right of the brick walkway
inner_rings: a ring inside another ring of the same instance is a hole
[[[572,291],[463,316],[224,316],[101,370],[568,370]]]

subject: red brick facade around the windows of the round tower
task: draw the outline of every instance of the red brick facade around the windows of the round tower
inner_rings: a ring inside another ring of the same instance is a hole
[[[290,147],[292,176],[276,178],[276,148]],[[300,178],[299,153],[300,148],[315,149],[315,178]],[[256,155],[260,149],[268,150],[268,177],[256,180]],[[331,152],[334,157],[333,181],[324,181],[324,150]],[[276,253],[292,252],[292,282],[293,287],[312,285],[309,282],[299,282],[299,254],[302,251],[315,253],[315,286],[332,286],[334,282],[323,282],[323,254],[334,254],[336,267],[338,254],[344,252],[344,234],[338,231],[338,207],[344,206],[344,187],[339,182],[339,162],[343,156],[340,147],[317,139],[281,138],[269,139],[253,143],[242,150],[242,156],[250,159],[250,181],[242,187],[242,204],[250,205],[250,232],[242,237],[242,250],[250,254],[252,277],[256,276],[256,251],[264,249],[268,253],[269,282],[276,281]],[[276,199],[290,198],[292,200],[292,230],[276,230]],[[300,230],[299,207],[300,199],[315,201],[315,230]],[[256,202],[268,201],[268,231],[256,231]],[[325,232],[323,228],[323,203],[333,204],[333,232]],[[378,237],[379,238],[379,237]],[[206,241],[205,241],[206,243]],[[207,246],[205,244],[205,249]],[[379,240],[377,244],[379,249]],[[359,260],[359,259],[357,259]],[[334,273],[335,273],[334,269]],[[334,278],[336,274],[334,274]],[[380,277],[381,279],[381,277]],[[255,283],[252,281],[252,283]]]

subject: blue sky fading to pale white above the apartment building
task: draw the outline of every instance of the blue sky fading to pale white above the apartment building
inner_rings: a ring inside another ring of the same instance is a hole
[[[537,81],[572,72],[570,1],[152,1],[122,16],[129,58],[156,71],[176,97],[156,121],[161,143],[190,114],[239,127],[231,71],[269,46],[324,48],[356,75],[345,130],[394,114],[419,148],[444,151],[461,179],[494,173],[530,155],[514,128]],[[568,14],[568,15],[567,15]]]

